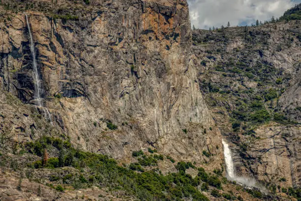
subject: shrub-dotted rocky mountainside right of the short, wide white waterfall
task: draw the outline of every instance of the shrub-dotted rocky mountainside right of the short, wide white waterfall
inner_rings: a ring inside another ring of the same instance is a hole
[[[301,185],[300,31],[300,21],[193,31],[200,87],[240,176]]]

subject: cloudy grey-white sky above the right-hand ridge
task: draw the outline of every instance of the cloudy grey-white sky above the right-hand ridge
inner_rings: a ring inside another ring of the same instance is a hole
[[[301,0],[188,0],[191,25],[196,28],[251,25],[280,17]]]

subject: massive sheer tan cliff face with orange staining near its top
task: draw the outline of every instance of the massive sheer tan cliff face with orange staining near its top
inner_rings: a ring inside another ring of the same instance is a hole
[[[10,136],[15,137],[20,124],[22,133],[39,133],[24,142],[51,129],[66,134],[76,147],[124,160],[132,151],[152,146],[181,160],[204,162],[206,150],[215,155],[213,166],[219,167],[220,132],[190,62],[187,3],[117,0],[98,2],[90,9],[75,21],[27,13],[43,81],[43,104],[54,127],[37,128],[34,115],[28,120],[22,114],[16,123],[3,105],[1,124]],[[0,86],[2,92],[22,100],[20,108],[37,113],[42,108],[37,111],[28,105],[33,102],[34,83],[25,20],[18,14],[0,23]]]

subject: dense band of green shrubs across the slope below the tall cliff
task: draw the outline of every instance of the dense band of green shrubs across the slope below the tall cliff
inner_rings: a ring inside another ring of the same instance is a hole
[[[143,151],[134,151],[133,156],[138,163],[132,163],[129,167],[120,167],[117,161],[102,154],[95,154],[74,149],[68,141],[52,137],[27,143],[26,150],[38,156],[44,155],[44,150],[53,150],[59,153],[59,157],[47,159],[43,166],[38,160],[29,164],[31,168],[73,167],[80,170],[64,176],[54,175],[49,179],[58,185],[54,187],[63,191],[61,184],[69,183],[74,188],[89,187],[90,185],[103,186],[106,184],[112,189],[123,189],[141,200],[179,200],[192,197],[196,201],[209,201],[196,187],[200,181],[206,181],[209,185],[221,188],[221,182],[216,176],[209,176],[204,169],[200,169],[202,177],[195,177],[185,173],[188,168],[195,168],[191,163],[179,162],[176,168],[179,173],[171,173],[166,176],[157,170],[144,171],[142,166],[156,166],[157,160],[163,160],[163,155],[154,154],[146,156]],[[143,173],[136,172],[140,171]]]

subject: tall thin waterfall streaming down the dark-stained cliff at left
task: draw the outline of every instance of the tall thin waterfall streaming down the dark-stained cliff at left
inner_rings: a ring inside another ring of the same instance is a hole
[[[41,108],[41,110],[43,111],[46,119],[51,123],[51,125],[53,125],[52,123],[52,119],[51,119],[51,115],[49,110],[46,107],[43,107],[42,105],[42,96],[41,96],[41,80],[39,78],[39,73],[37,70],[37,63],[36,63],[36,58],[35,58],[35,50],[34,50],[34,42],[33,42],[33,37],[32,37],[32,32],[30,29],[30,23],[28,20],[28,16],[27,14],[25,14],[26,17],[26,23],[27,23],[27,28],[28,28],[28,32],[30,35],[30,52],[31,52],[31,56],[32,56],[32,67],[33,67],[33,73],[34,73],[34,102],[35,105],[39,108]]]

